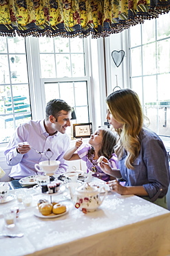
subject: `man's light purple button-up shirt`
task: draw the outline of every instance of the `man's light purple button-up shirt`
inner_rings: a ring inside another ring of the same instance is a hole
[[[66,172],[68,166],[63,155],[70,147],[69,136],[60,132],[50,136],[45,130],[44,120],[30,120],[30,122],[19,125],[4,152],[7,164],[12,166],[10,177],[21,179],[25,176],[35,175],[37,174],[34,169],[35,163],[48,160],[47,156],[36,153],[34,149],[30,149],[26,154],[17,153],[17,145],[25,141],[39,152],[51,149],[54,153],[53,156],[51,152],[47,152],[47,156],[52,156],[51,160],[61,162],[56,173]]]

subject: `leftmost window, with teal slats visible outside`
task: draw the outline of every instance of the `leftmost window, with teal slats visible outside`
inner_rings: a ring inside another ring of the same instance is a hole
[[[25,39],[0,37],[0,143],[31,119]]]

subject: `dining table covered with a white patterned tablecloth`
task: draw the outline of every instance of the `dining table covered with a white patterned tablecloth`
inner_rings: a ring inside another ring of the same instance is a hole
[[[101,184],[99,179],[92,182]],[[84,213],[70,199],[67,185],[52,195],[67,211],[55,218],[39,217],[37,203],[49,195],[36,188],[24,188],[32,195],[30,207],[12,199],[0,203],[0,234],[23,233],[23,237],[2,237],[1,256],[167,256],[170,255],[170,212],[139,196],[107,191],[103,203]],[[101,193],[103,196],[103,193]],[[19,207],[16,226],[6,228],[3,212]]]

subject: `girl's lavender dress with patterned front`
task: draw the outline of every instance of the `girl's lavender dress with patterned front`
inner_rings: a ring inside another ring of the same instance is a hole
[[[81,147],[78,147],[77,149],[78,156],[86,162],[87,172],[92,171],[94,172],[93,176],[96,178],[102,179],[103,181],[109,181],[110,176],[101,170],[100,166],[98,166],[97,160],[94,160],[93,156],[88,156],[89,149],[91,148],[92,146],[89,144],[82,144]],[[111,158],[109,159],[109,165],[111,168],[118,168],[116,154],[112,154]]]

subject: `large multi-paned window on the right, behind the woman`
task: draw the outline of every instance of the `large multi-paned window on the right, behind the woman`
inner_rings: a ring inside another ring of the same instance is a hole
[[[129,29],[131,88],[140,96],[149,128],[170,136],[170,12]]]

